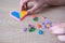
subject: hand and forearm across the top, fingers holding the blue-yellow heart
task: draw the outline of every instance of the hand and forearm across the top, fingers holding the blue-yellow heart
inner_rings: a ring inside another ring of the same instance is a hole
[[[26,5],[26,3],[30,2],[30,1],[32,1],[35,4],[30,10],[27,11],[27,14],[34,13],[39,8],[41,8],[43,4],[65,5],[65,0],[21,0],[21,9],[22,10],[26,9],[24,5]]]

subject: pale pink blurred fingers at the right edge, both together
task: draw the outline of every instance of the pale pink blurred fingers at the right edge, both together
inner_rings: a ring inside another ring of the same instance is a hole
[[[50,28],[52,34],[56,34],[60,41],[65,42],[65,23],[57,24]]]

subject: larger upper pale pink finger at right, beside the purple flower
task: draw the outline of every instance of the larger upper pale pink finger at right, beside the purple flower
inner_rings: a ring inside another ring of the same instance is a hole
[[[56,26],[53,26],[51,27],[49,30],[51,31],[51,33],[53,34],[57,34],[57,35],[62,35],[62,34],[65,34],[65,26],[63,27],[64,25],[56,25]]]

